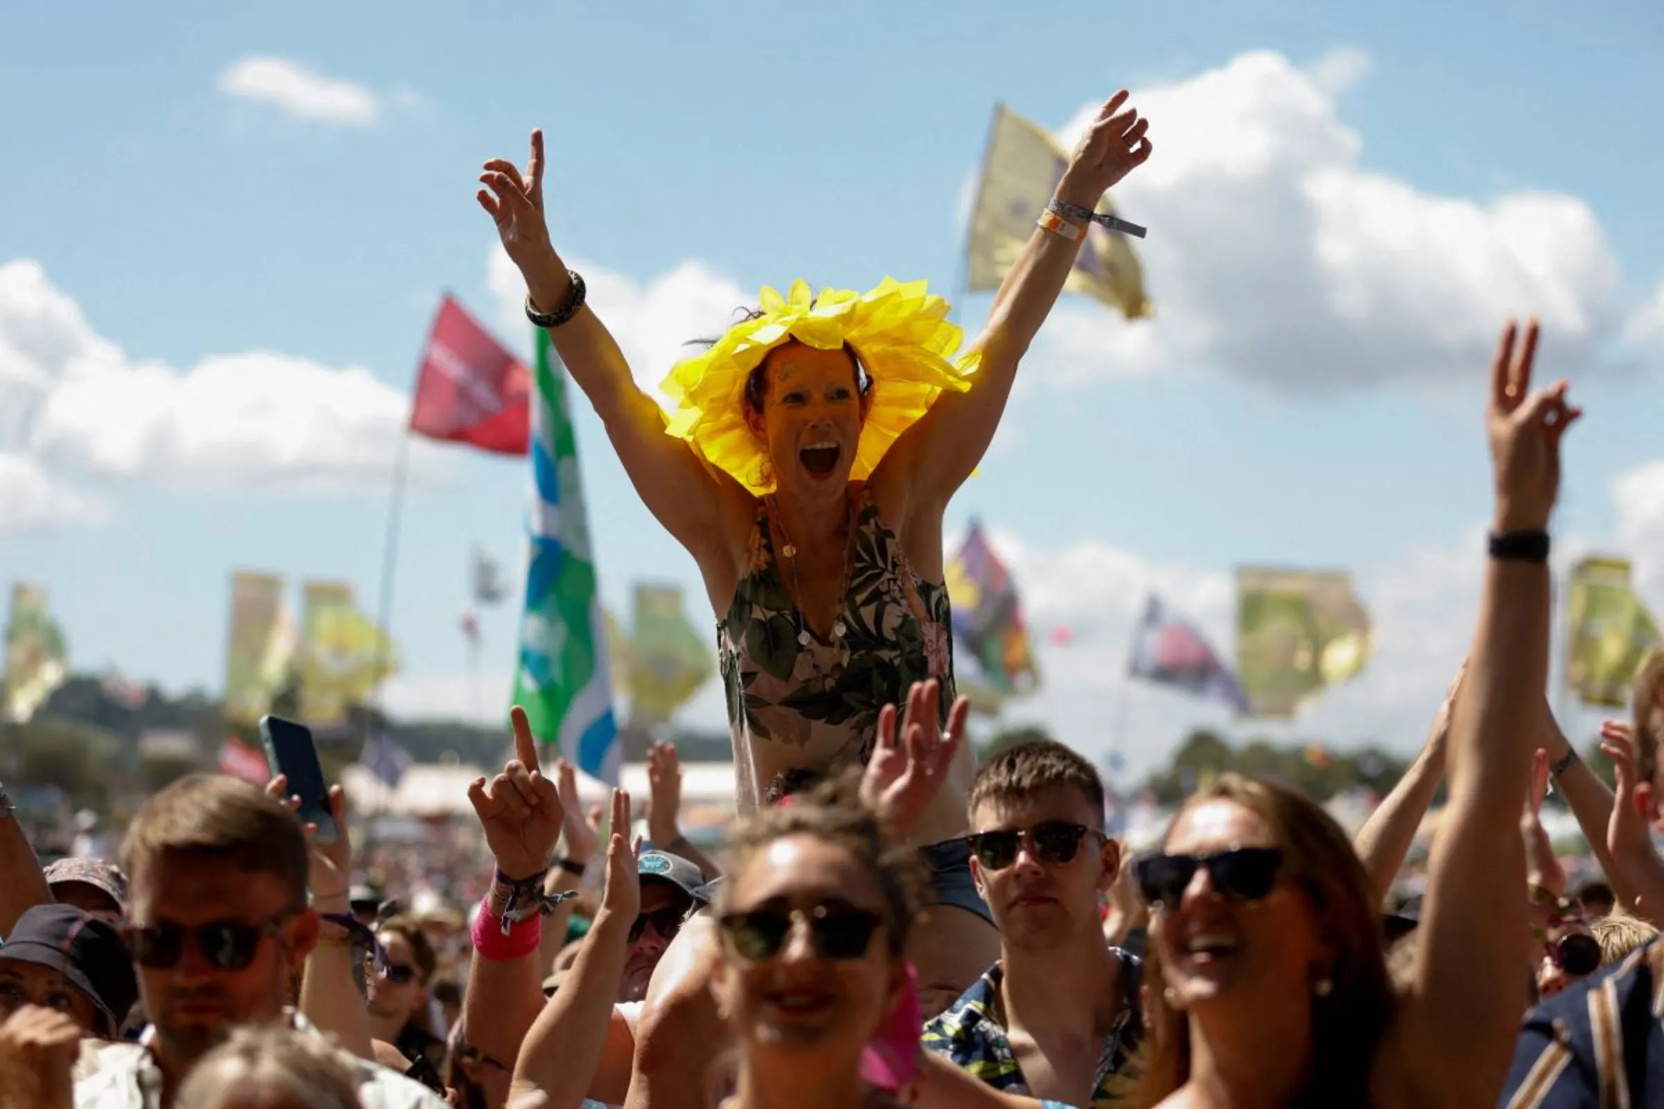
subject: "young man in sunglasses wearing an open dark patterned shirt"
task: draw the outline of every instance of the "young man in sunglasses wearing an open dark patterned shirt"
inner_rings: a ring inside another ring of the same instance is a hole
[[[924,1047],[1005,1094],[1105,1109],[1137,1079],[1140,963],[1110,948],[1098,900],[1122,866],[1103,783],[1062,743],[995,755],[970,786],[970,870],[1000,928],[1000,961]]]

